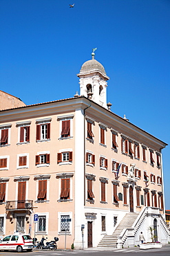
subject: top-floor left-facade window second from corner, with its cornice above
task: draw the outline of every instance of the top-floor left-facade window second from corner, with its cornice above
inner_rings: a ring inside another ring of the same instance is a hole
[[[52,118],[36,120],[36,141],[50,140],[50,122]]]

